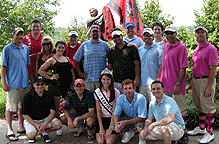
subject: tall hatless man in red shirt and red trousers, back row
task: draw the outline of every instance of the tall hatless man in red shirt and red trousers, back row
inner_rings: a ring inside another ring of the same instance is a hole
[[[43,35],[40,33],[42,29],[41,22],[37,19],[34,19],[30,25],[31,32],[30,34],[24,36],[23,44],[25,44],[29,48],[30,62],[29,66],[29,74],[30,80],[33,81],[33,78],[36,76],[36,60],[37,53],[39,53],[42,49],[42,39]]]

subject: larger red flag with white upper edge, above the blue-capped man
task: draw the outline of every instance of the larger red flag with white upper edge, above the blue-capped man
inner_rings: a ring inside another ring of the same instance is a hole
[[[138,12],[136,0],[110,0],[107,4],[120,16],[120,24],[125,31],[125,24],[133,22],[135,24],[135,35],[138,37],[143,36],[143,24]]]

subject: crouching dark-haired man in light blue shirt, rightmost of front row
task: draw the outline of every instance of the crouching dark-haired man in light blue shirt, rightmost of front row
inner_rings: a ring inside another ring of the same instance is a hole
[[[151,100],[145,128],[140,133],[142,140],[163,140],[171,144],[172,140],[180,139],[185,129],[184,121],[174,99],[166,96],[164,85],[154,81],[151,85],[152,94],[156,99]],[[156,122],[152,122],[153,118]]]

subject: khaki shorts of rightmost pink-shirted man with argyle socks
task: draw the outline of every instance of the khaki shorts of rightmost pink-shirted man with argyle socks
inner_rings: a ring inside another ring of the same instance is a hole
[[[198,110],[203,113],[215,113],[214,95],[216,87],[216,79],[212,86],[212,95],[210,97],[205,97],[204,92],[208,86],[208,78],[194,79],[192,85],[192,95],[195,106]]]

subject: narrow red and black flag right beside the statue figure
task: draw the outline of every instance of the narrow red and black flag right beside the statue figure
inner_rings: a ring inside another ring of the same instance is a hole
[[[111,31],[115,28],[115,22],[110,9],[105,6],[103,8],[103,23],[101,25],[101,32],[104,41],[108,42],[112,40]]]

